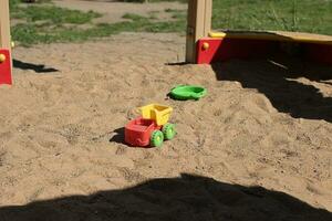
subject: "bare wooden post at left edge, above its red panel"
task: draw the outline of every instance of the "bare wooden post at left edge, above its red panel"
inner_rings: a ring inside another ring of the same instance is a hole
[[[9,0],[0,0],[0,48],[10,50]]]

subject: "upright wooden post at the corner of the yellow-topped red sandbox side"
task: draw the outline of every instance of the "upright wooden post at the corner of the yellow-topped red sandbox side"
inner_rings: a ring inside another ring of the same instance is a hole
[[[196,45],[211,30],[212,0],[189,0],[186,62],[196,63]]]

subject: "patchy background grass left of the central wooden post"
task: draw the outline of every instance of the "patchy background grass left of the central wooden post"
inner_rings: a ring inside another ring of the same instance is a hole
[[[63,9],[52,3],[22,7],[19,0],[11,1],[11,19],[19,22],[11,28],[12,39],[19,45],[38,43],[81,42],[110,36],[121,32],[184,32],[185,19],[158,21],[156,15],[124,14],[128,21],[118,23],[93,23],[102,14]],[[168,13],[179,14],[178,11]]]

